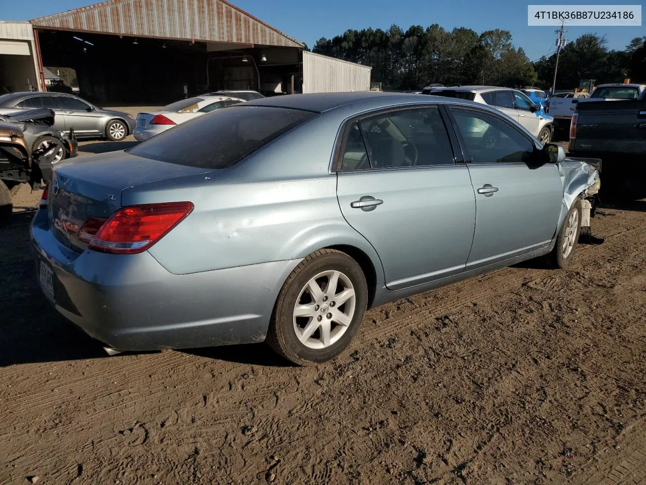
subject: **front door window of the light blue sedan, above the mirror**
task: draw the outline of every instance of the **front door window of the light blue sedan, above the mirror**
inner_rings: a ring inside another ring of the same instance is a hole
[[[497,116],[480,111],[452,107],[455,122],[470,162],[476,164],[529,163],[534,154],[534,144],[512,125]]]

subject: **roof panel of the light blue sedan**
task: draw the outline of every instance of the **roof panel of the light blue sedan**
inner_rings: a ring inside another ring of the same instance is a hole
[[[311,94],[286,94],[285,96],[271,96],[262,100],[247,101],[247,106],[268,106],[287,109],[300,109],[314,113],[324,113],[342,107],[352,107],[353,111],[360,113],[371,109],[388,108],[406,104],[437,104],[454,103],[482,107],[480,103],[468,100],[433,96],[432,94],[412,94],[408,92],[376,92],[376,91],[351,91],[351,92],[317,92]]]

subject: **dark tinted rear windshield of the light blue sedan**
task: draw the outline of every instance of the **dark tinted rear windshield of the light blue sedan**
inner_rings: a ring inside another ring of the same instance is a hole
[[[189,167],[230,167],[316,113],[264,106],[232,106],[154,136],[128,152]]]

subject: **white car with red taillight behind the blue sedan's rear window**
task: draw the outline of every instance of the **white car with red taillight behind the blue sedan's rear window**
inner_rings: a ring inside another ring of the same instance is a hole
[[[197,116],[202,116],[202,114],[244,102],[245,100],[222,94],[176,101],[164,106],[160,111],[138,113],[137,124],[132,135],[138,142],[143,142],[155,135],[159,135],[162,131],[171,129],[175,125],[192,120]]]

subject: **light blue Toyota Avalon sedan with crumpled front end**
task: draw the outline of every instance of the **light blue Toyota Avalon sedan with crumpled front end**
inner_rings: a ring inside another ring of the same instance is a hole
[[[592,165],[481,103],[297,94],[60,162],[31,235],[43,293],[109,354],[267,340],[306,365],[367,308],[568,266],[598,189]]]

